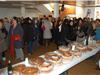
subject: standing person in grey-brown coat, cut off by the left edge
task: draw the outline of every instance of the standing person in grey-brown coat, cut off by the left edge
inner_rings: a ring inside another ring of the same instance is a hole
[[[5,51],[8,49],[7,31],[3,25],[4,22],[0,19],[0,67],[4,64],[2,61],[6,61]]]

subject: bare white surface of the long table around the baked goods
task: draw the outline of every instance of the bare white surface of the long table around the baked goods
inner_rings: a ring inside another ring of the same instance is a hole
[[[60,75],[65,71],[68,71],[70,68],[73,66],[79,64],[80,62],[86,60],[87,58],[94,56],[96,53],[98,53],[100,50],[100,47],[98,46],[97,48],[93,49],[92,51],[88,51],[85,53],[82,53],[81,57],[74,57],[71,61],[68,61],[66,63],[63,63],[61,65],[56,65],[54,66],[54,69],[49,72],[49,73],[40,73],[39,75]],[[19,65],[19,64],[24,64],[24,62],[15,64],[13,66]],[[0,70],[0,75],[7,75],[7,68],[3,68]]]

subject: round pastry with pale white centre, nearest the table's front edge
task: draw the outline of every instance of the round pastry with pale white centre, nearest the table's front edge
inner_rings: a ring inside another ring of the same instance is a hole
[[[39,71],[45,72],[45,73],[52,71],[53,67],[54,67],[53,64],[50,62],[47,62],[47,61],[45,61],[44,63],[42,63],[38,66]]]

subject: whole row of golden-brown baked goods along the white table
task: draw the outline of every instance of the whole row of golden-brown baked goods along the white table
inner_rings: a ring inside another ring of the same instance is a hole
[[[39,72],[48,73],[53,70],[55,65],[71,61],[74,56],[81,57],[82,52],[93,50],[96,45],[84,46],[77,42],[71,44],[75,45],[75,50],[71,47],[59,47],[56,52],[48,52],[44,57],[30,58],[29,63],[33,66],[26,67],[25,65],[18,65],[13,68],[13,75],[39,75]]]

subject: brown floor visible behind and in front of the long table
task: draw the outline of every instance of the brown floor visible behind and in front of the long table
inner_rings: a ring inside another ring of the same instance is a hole
[[[36,57],[39,55],[42,55],[49,51],[56,50],[55,44],[50,44],[48,48],[45,48],[44,46],[40,46],[39,49],[34,50],[32,55],[28,55],[27,51],[25,52],[25,57]],[[96,61],[100,59],[100,52],[95,55],[95,60],[93,58],[89,58],[80,64],[72,67],[69,69],[69,75],[100,75],[100,70],[97,70],[96,68]],[[18,61],[14,60],[13,63],[16,63]]]

